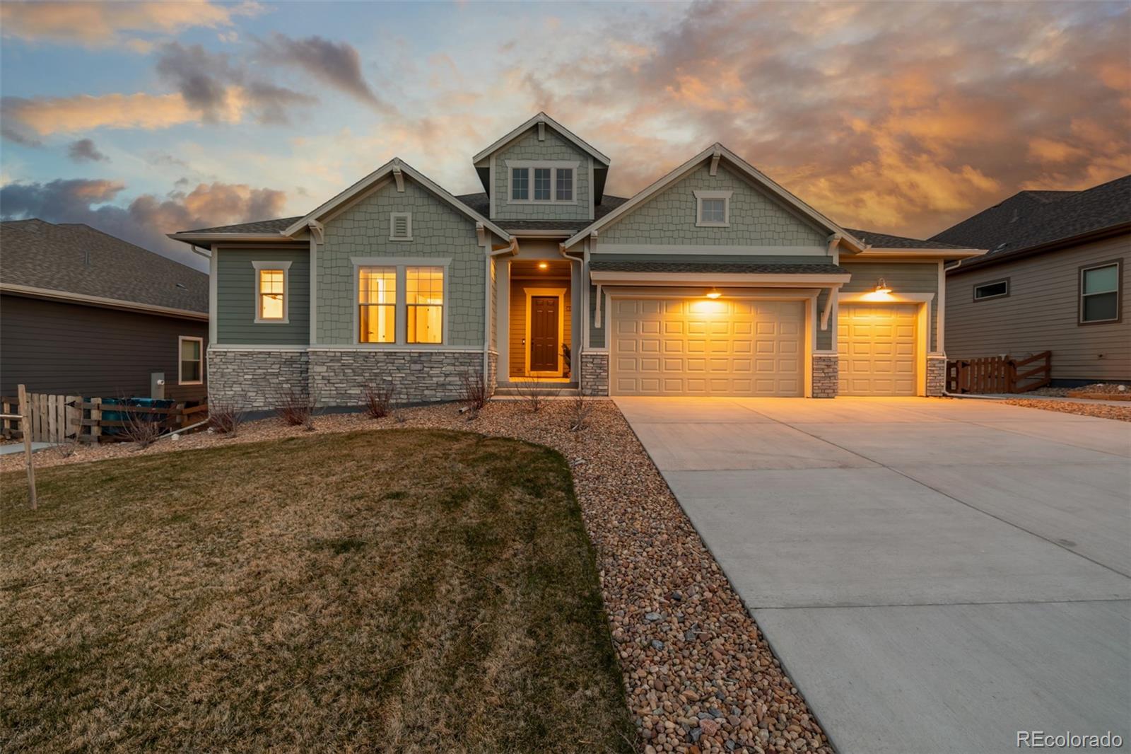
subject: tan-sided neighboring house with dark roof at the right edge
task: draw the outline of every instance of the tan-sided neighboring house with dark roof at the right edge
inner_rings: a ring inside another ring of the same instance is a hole
[[[1131,175],[1021,191],[932,240],[990,249],[947,271],[952,358],[1052,351],[1053,384],[1131,382]]]

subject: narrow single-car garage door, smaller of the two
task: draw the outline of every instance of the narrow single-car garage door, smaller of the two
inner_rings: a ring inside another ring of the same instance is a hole
[[[915,395],[914,303],[841,303],[840,395]]]

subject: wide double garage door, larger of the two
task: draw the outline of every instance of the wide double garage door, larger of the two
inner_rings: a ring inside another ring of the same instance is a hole
[[[614,395],[804,391],[802,301],[613,299]]]

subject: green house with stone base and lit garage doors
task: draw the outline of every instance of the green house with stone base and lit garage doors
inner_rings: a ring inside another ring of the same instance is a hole
[[[588,395],[943,388],[943,262],[978,250],[844,229],[719,144],[630,199],[544,113],[472,160],[482,194],[395,158],[302,217],[172,234],[211,259],[214,399],[356,405],[391,380],[450,400],[465,375]]]

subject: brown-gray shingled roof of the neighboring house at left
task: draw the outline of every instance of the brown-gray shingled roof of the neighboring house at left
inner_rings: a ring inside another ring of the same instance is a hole
[[[208,314],[208,275],[81,223],[0,223],[0,288]]]

